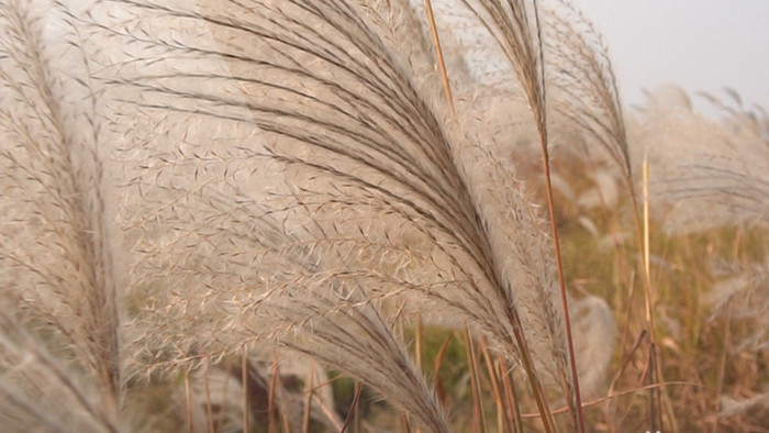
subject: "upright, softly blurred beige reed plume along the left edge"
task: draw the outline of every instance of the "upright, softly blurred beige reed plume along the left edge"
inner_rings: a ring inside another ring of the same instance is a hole
[[[20,422],[42,413],[59,429],[114,431],[121,277],[99,87],[74,35],[48,26],[41,4],[0,11],[3,397]],[[55,409],[60,401],[71,412]]]

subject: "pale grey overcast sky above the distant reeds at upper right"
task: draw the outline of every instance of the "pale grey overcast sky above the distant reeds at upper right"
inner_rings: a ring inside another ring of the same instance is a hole
[[[603,33],[625,102],[673,82],[717,95],[727,86],[769,108],[769,1],[573,2]]]

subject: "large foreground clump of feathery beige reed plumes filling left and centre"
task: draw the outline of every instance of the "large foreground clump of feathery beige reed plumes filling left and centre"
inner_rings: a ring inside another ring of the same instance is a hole
[[[444,93],[456,78],[436,73],[430,26],[408,1],[56,2],[52,34],[35,4],[2,4],[12,146],[0,209],[20,227],[2,237],[3,284],[16,281],[3,295],[19,310],[7,317],[37,344],[65,342],[54,348],[85,371],[99,397],[82,406],[103,402],[93,411],[105,426],[122,417],[127,363],[133,387],[165,367],[191,389],[190,369],[233,356],[247,366],[254,346],[277,345],[448,431],[395,331],[430,309],[522,365],[546,431],[557,428],[551,382],[586,429],[549,185],[546,73],[561,58],[546,60],[537,2],[458,5],[528,103],[549,226],[501,157],[514,131],[487,131],[488,108],[472,103],[475,85],[490,86],[466,70],[472,86]],[[60,58],[41,42],[56,32],[70,45]],[[602,80],[584,89],[600,109],[569,95],[564,112],[590,119],[579,125],[629,179],[613,77],[603,60],[589,67],[579,76]]]

